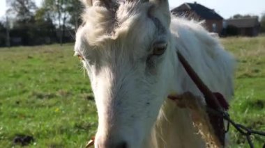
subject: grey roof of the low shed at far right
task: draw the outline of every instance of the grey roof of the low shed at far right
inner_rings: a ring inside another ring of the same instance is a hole
[[[238,28],[249,28],[259,26],[257,17],[242,18],[242,19],[227,19],[225,20],[227,25],[236,26]]]

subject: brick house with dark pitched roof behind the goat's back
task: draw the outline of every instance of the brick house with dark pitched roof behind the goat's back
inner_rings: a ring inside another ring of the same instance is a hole
[[[206,8],[201,4],[183,3],[171,10],[173,15],[195,19],[197,21],[205,21],[206,29],[210,32],[221,34],[223,30],[223,18],[215,12],[215,10]]]

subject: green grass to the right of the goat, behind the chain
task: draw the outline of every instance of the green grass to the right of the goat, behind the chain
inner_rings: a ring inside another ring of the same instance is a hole
[[[265,131],[265,36],[225,38],[222,43],[236,57],[235,95],[229,111],[234,121]],[[248,147],[245,138],[234,128],[232,147]],[[265,144],[265,137],[252,137],[255,147]]]

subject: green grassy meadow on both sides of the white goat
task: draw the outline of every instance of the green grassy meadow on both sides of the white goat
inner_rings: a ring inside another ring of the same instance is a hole
[[[237,64],[232,119],[265,131],[265,36],[221,39]],[[96,133],[89,79],[73,44],[0,49],[0,147],[30,135],[27,147],[84,147]],[[231,127],[232,147],[248,147]],[[254,138],[262,147],[265,138]]]

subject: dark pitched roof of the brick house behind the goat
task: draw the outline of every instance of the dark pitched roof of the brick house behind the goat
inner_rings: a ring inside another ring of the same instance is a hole
[[[202,17],[202,19],[223,19],[215,10],[206,8],[196,2],[183,3],[181,6],[172,9],[171,12],[177,15],[183,15],[183,13],[188,12],[188,10],[194,11],[199,17]]]

